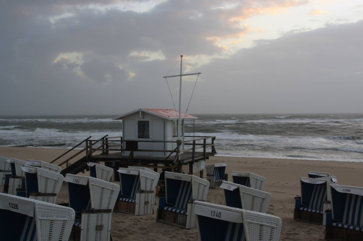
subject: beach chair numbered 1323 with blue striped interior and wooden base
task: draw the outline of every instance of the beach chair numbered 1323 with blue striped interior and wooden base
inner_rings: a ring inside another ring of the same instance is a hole
[[[330,200],[329,185],[333,182],[301,177],[300,183],[301,196],[295,197],[294,220],[323,224],[323,211],[331,208],[325,201]]]

